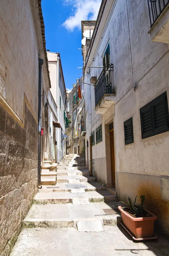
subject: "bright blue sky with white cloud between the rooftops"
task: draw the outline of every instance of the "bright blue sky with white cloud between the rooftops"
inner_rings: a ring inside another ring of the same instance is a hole
[[[42,0],[46,49],[59,52],[66,88],[82,76],[81,20],[96,20],[101,0]]]

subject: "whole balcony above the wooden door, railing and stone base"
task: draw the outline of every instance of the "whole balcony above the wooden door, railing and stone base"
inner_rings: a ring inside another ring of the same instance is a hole
[[[115,103],[112,93],[111,70],[103,70],[95,86],[95,112],[103,114]]]

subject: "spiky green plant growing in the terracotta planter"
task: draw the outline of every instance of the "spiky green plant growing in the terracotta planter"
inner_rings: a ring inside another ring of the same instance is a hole
[[[135,201],[134,203],[132,202],[132,198],[130,198],[128,196],[128,199],[127,199],[127,204],[124,203],[124,202],[120,202],[122,204],[124,204],[124,207],[122,207],[123,210],[127,210],[128,212],[130,212],[131,214],[133,215],[142,215],[143,212],[144,212],[144,200],[145,200],[145,195],[141,195],[140,198],[141,198],[141,204],[136,204],[136,200],[137,200],[137,195],[135,197]]]

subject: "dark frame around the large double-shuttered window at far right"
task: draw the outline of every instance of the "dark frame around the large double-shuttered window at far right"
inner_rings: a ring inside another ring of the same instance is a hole
[[[158,107],[159,102],[163,102],[164,105],[166,125],[164,125],[164,127],[157,128],[157,122],[155,121],[155,107]],[[151,116],[151,131],[149,132],[144,132],[143,115],[145,114],[146,111],[147,113],[149,111],[149,115]],[[169,131],[169,108],[166,92],[162,93],[161,95],[153,99],[151,102],[147,103],[144,107],[140,108],[140,121],[142,139],[146,139]]]

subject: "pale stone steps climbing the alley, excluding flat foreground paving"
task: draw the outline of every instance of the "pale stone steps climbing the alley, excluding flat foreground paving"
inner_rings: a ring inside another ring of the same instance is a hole
[[[46,176],[42,176],[48,180],[56,175],[50,168],[44,169]],[[42,181],[42,189],[25,218],[25,228],[75,227],[78,231],[97,232],[103,231],[104,225],[117,224],[120,215],[116,195],[90,177],[82,155],[66,155],[57,166],[56,180],[56,184]],[[107,215],[103,209],[116,212]]]

